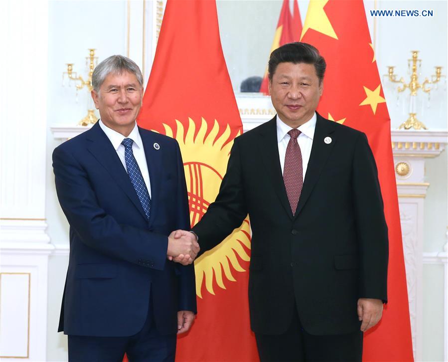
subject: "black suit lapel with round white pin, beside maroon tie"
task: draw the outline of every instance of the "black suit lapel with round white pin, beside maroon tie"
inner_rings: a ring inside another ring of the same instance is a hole
[[[299,215],[306,203],[311,191],[319,179],[320,173],[325,166],[328,156],[336,143],[336,138],[331,134],[334,132],[334,125],[322,118],[318,113],[316,120],[316,128],[314,130],[314,137],[312,141],[311,154],[309,156],[308,167],[306,169],[305,179],[303,181],[303,188],[300,194],[299,204],[295,213],[295,218]],[[325,143],[325,137],[331,137],[331,143]]]

